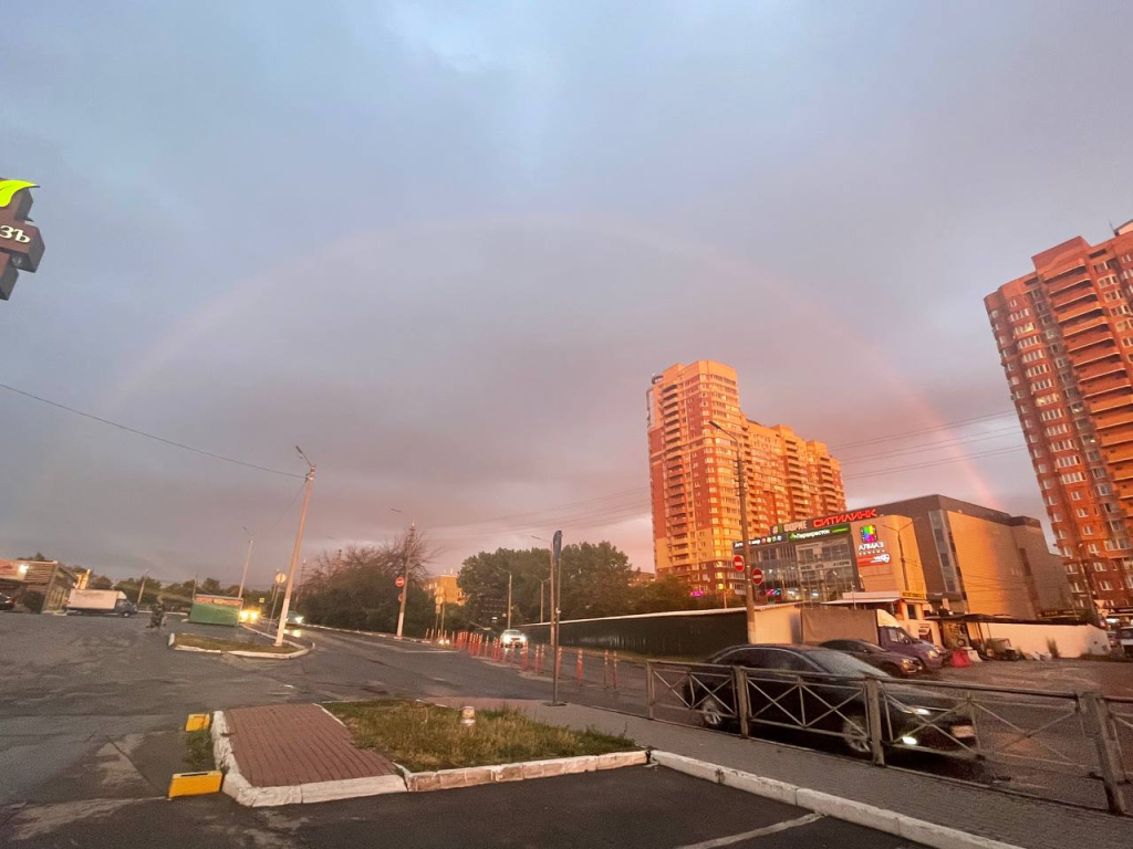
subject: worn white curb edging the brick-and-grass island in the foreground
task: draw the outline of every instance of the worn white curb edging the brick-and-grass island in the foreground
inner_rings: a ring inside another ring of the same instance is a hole
[[[323,710],[326,710],[325,707]],[[338,720],[338,717],[327,714]],[[341,721],[341,720],[338,720]],[[521,763],[496,764],[492,766],[467,766],[435,772],[408,772],[398,764],[397,775],[374,775],[341,781],[320,781],[309,784],[284,784],[279,787],[253,787],[242,774],[240,765],[228,739],[228,721],[223,711],[213,713],[212,721],[213,760],[216,769],[224,771],[221,792],[231,796],[237,804],[246,807],[269,807],[273,805],[301,805],[335,799],[355,799],[361,796],[378,796],[395,792],[427,792],[431,790],[453,790],[461,787],[495,784],[505,781],[577,775],[599,770],[616,770],[621,766],[639,766],[649,762],[647,752],[611,752],[605,755],[580,755],[578,757],[555,757],[546,761],[523,761]]]

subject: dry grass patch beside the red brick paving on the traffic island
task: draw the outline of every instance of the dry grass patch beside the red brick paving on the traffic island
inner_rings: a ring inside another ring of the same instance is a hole
[[[641,748],[628,737],[546,726],[510,707],[477,711],[471,728],[460,724],[460,711],[421,702],[337,702],[326,709],[350,729],[356,746],[377,749],[411,772]]]

